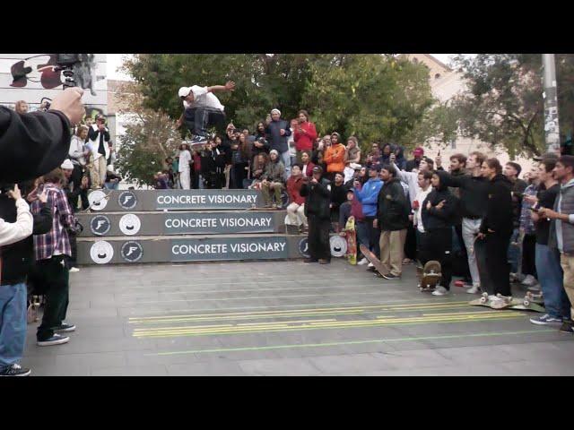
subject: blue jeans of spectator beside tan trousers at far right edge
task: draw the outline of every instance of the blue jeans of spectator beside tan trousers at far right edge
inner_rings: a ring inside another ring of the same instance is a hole
[[[570,319],[570,300],[564,290],[560,253],[548,245],[536,244],[535,261],[546,312],[553,318]]]

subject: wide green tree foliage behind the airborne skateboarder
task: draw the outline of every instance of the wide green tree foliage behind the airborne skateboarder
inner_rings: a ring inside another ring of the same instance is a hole
[[[137,82],[143,106],[172,119],[182,112],[179,87],[231,80],[236,90],[217,97],[228,120],[251,131],[273,107],[287,119],[304,108],[318,133],[354,134],[365,146],[392,140],[413,147],[421,143],[415,137],[424,140],[435,130],[429,124],[434,116],[428,116],[434,101],[428,69],[394,56],[142,54],[125,70]]]

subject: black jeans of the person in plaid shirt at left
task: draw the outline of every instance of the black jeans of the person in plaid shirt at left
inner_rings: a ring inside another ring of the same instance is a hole
[[[69,271],[62,262],[64,255],[56,255],[37,262],[39,278],[46,288],[44,316],[36,332],[39,341],[54,336],[53,329],[65,320],[69,301]]]

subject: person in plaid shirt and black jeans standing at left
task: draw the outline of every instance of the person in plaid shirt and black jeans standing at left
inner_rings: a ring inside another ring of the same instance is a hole
[[[52,228],[45,235],[34,236],[37,279],[35,283],[46,291],[46,305],[42,323],[36,333],[40,347],[67,343],[70,338],[55,331],[74,331],[75,326],[64,322],[68,307],[68,269],[65,255],[71,256],[72,249],[67,228],[74,228],[74,215],[67,201],[62,184],[65,176],[61,168],[44,176],[43,189],[48,193],[46,205],[52,211]],[[32,214],[39,213],[39,202],[33,202]]]

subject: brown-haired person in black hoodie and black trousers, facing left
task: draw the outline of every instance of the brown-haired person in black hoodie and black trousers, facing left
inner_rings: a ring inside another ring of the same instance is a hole
[[[502,175],[498,159],[484,161],[482,171],[489,181],[489,188],[486,213],[476,240],[476,246],[483,248],[483,251],[477,250],[478,269],[483,289],[491,300],[499,300],[496,297],[499,293],[510,296],[507,251],[513,229],[512,183]]]

